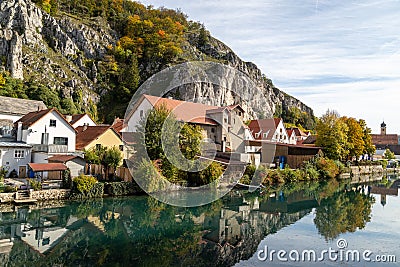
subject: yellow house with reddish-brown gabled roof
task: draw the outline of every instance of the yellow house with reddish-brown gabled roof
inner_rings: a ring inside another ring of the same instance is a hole
[[[113,146],[121,151],[124,150],[121,137],[110,125],[79,126],[76,131],[76,150],[78,151]]]

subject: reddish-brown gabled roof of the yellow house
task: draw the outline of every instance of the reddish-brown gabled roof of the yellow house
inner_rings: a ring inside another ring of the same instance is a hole
[[[120,135],[115,132],[110,125],[97,125],[97,126],[79,126],[76,128],[76,150],[82,150],[91,142],[96,140],[106,131],[111,130],[115,133],[118,138]]]

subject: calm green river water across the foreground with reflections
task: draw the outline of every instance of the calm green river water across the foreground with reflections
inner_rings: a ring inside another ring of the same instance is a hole
[[[233,190],[197,208],[147,196],[3,205],[0,266],[399,266],[399,185]]]

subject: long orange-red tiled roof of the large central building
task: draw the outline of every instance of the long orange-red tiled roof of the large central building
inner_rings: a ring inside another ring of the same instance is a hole
[[[207,118],[206,113],[209,110],[219,109],[221,107],[208,106],[200,103],[193,103],[157,96],[143,95],[154,107],[165,105],[171,110],[178,120],[198,124],[218,125],[214,120]]]

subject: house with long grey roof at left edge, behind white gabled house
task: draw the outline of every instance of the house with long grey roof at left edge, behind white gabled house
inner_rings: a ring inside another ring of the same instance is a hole
[[[0,137],[11,137],[14,122],[25,114],[46,108],[43,101],[0,96]]]

